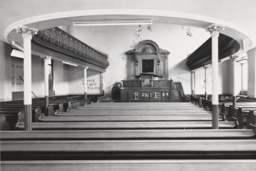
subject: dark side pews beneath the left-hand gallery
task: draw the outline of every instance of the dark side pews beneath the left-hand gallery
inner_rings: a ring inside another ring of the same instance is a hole
[[[90,99],[83,99],[83,95],[50,97],[50,104],[45,105],[44,98],[34,98],[32,104],[32,121],[44,115],[53,116],[57,111],[68,111],[78,105],[90,103]],[[17,120],[24,118],[24,105],[22,100],[0,103],[0,130],[15,130]]]

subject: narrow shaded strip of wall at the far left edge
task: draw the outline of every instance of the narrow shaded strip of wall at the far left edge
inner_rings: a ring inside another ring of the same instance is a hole
[[[11,98],[11,46],[0,41],[0,102]]]

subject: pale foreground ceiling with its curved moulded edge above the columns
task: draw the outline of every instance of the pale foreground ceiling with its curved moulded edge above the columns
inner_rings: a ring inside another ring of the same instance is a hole
[[[21,25],[44,29],[74,20],[151,18],[153,24],[223,24],[222,34],[251,48],[256,43],[255,8],[255,0],[8,0],[0,4],[0,40],[18,39],[13,30]]]

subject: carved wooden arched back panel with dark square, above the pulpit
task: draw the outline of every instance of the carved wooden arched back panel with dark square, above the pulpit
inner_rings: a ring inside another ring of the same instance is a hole
[[[170,52],[160,49],[154,41],[143,40],[134,50],[128,50],[125,54],[128,56],[128,80],[136,79],[143,74],[152,74],[157,76],[157,79],[168,79]]]

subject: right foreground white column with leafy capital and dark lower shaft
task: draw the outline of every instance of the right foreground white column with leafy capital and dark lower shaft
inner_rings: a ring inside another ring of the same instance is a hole
[[[212,129],[219,129],[219,31],[224,28],[218,24],[206,27],[206,31],[209,31],[212,36]]]

